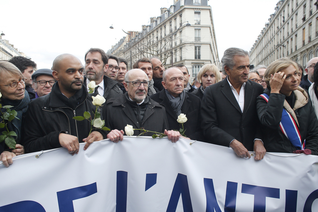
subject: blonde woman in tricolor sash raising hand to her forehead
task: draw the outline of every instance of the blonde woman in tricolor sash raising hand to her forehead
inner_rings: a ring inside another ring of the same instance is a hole
[[[275,60],[264,78],[267,88],[257,98],[257,113],[267,152],[318,155],[318,120],[299,86],[297,64],[290,58]]]

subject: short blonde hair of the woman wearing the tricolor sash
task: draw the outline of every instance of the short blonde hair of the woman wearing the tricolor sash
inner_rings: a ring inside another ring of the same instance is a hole
[[[264,74],[264,80],[266,82],[266,85],[268,88],[271,88],[269,85],[269,80],[271,79],[271,74],[274,75],[274,73],[281,72],[281,70],[287,68],[288,66],[293,65],[295,69],[299,72],[298,65],[296,62],[294,62],[291,58],[279,58],[269,64],[269,66],[266,68],[265,74]]]

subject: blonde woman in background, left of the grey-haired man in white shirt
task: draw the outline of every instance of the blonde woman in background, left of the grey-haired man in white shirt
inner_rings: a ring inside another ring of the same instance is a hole
[[[202,66],[200,71],[197,73],[197,80],[201,85],[199,88],[192,91],[191,93],[198,96],[202,100],[204,89],[209,85],[213,85],[217,82],[222,81],[222,76],[216,65],[206,64]]]

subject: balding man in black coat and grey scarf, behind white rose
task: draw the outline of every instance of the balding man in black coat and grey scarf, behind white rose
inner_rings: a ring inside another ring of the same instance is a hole
[[[150,96],[151,99],[165,106],[169,129],[179,129],[178,116],[183,113],[189,121],[183,127],[185,135],[192,140],[203,141],[200,121],[201,99],[192,93],[185,92],[183,72],[171,67],[163,72],[161,92]]]

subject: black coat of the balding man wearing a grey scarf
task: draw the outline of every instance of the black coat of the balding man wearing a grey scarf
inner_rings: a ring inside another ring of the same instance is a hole
[[[151,95],[150,98],[165,106],[169,130],[179,130],[182,125],[177,122],[178,116],[171,107],[165,89]],[[187,129],[184,134],[192,140],[203,141],[204,137],[202,136],[200,126],[200,111],[201,99],[191,93],[185,92],[181,113],[185,114],[188,120],[183,124],[184,129]]]

